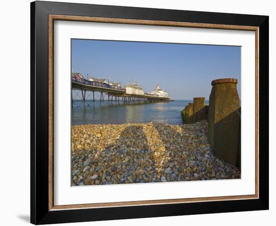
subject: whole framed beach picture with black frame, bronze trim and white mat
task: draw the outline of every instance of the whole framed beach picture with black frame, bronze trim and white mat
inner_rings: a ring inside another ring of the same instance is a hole
[[[31,3],[31,222],[268,209],[268,16]]]

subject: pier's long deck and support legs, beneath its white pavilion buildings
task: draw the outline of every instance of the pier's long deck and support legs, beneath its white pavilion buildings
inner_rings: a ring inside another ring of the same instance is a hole
[[[127,94],[125,88],[96,82],[84,79],[75,79],[72,77],[72,92],[73,90],[78,90],[81,95],[78,95],[83,101],[86,100],[96,101],[96,94],[99,95],[100,103],[123,103],[123,104],[133,104],[133,103],[151,103],[151,102],[168,102],[170,97],[167,96],[157,96],[145,93],[144,95],[137,94]],[[105,96],[105,98],[104,98]],[[72,93],[72,106],[73,106],[73,93]]]

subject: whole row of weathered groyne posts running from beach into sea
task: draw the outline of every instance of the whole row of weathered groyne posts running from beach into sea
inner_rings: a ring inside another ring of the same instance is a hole
[[[208,121],[208,141],[213,154],[232,165],[240,167],[240,100],[237,79],[223,78],[211,82],[209,105],[204,97],[195,97],[182,110],[184,124]]]

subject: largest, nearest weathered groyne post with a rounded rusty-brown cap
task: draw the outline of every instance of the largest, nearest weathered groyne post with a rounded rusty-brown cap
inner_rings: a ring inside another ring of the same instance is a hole
[[[236,85],[235,78],[213,80],[209,98],[209,143],[216,157],[232,165],[237,165],[240,140]]]

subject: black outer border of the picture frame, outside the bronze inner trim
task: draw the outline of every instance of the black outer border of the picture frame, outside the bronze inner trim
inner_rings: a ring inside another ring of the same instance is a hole
[[[49,210],[48,15],[259,27],[259,198]],[[268,209],[268,16],[56,2],[31,3],[31,223],[175,216]]]

